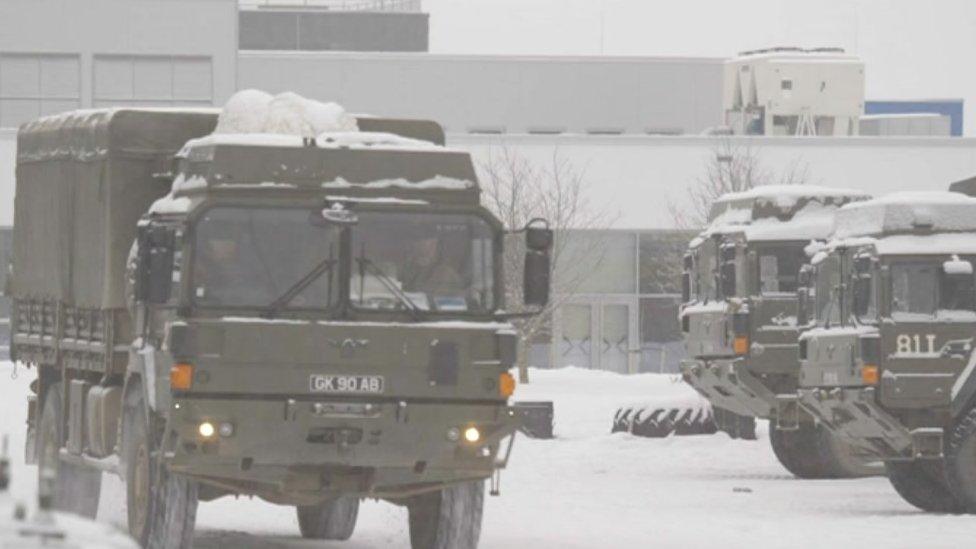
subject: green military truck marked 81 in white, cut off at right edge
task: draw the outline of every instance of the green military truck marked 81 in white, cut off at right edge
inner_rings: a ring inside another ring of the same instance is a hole
[[[800,403],[926,511],[976,512],[974,261],[976,199],[931,192],[842,208],[812,262]]]

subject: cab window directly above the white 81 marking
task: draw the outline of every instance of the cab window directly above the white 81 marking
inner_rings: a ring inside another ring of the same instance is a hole
[[[970,275],[970,278],[972,275]],[[891,265],[891,318],[924,321],[935,317],[974,318],[972,280],[951,278],[941,261],[898,262]]]

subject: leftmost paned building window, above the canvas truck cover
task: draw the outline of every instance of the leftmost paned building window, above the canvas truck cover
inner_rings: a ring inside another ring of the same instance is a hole
[[[0,54],[0,127],[80,107],[77,55]]]

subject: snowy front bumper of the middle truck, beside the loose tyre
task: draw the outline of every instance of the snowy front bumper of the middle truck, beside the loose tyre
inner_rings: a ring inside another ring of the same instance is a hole
[[[681,375],[713,406],[760,418],[771,417],[776,409],[776,394],[749,371],[743,359],[683,360]]]

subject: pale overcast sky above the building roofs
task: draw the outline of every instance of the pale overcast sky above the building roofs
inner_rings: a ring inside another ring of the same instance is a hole
[[[976,0],[424,0],[431,51],[729,57],[840,46],[868,99],[962,98],[976,135]]]

